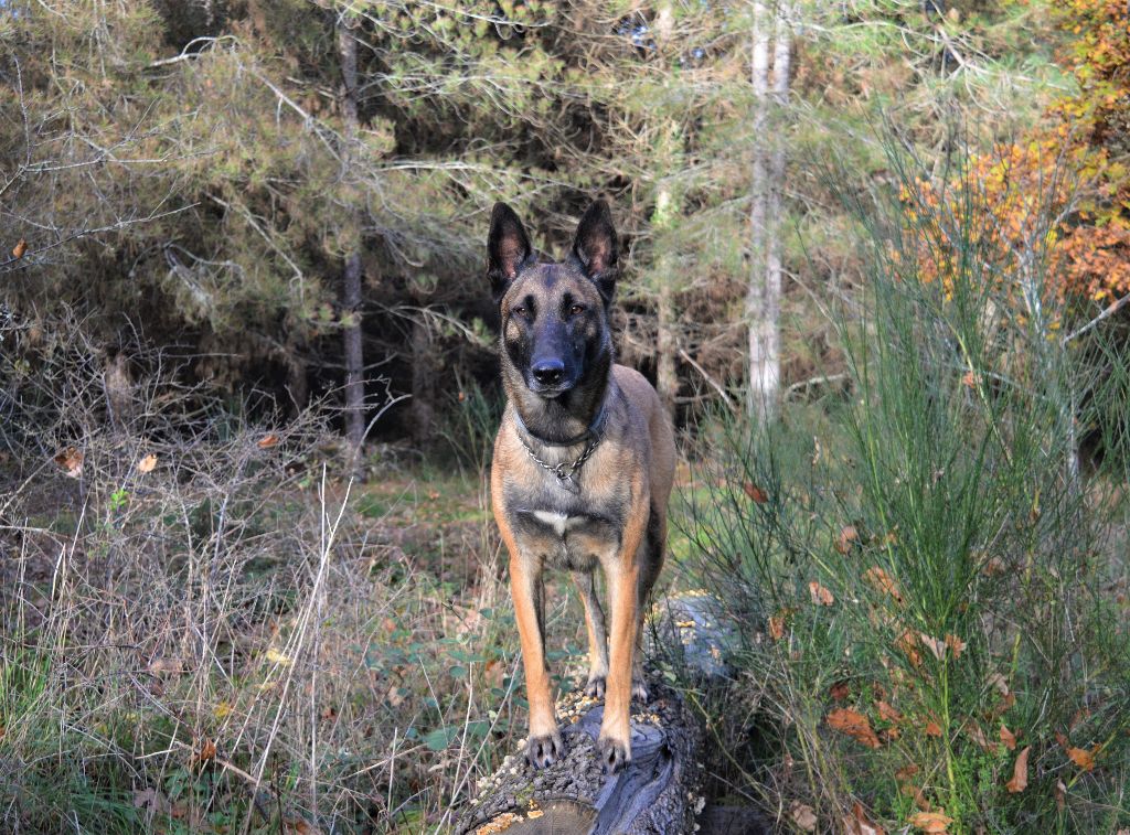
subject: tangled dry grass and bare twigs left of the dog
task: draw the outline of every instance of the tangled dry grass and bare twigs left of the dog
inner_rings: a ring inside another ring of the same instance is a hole
[[[0,829],[442,829],[524,732],[484,486],[350,487],[323,412],[2,336]]]

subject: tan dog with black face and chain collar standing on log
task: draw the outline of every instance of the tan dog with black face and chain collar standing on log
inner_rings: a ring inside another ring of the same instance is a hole
[[[508,206],[492,212],[487,272],[501,316],[507,406],[490,493],[510,551],[530,703],[525,756],[534,768],[565,751],[546,664],[545,567],[571,572],[584,601],[585,694],[605,699],[597,750],[607,773],[631,762],[628,708],[633,696],[647,698],[640,643],[663,565],[675,433],[651,384],[614,363],[608,314],[617,255],[602,200],[581,218],[562,262],[539,261]],[[607,629],[597,566],[608,591]]]

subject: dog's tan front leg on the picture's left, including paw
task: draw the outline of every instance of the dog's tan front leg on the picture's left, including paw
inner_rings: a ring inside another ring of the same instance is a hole
[[[510,590],[514,598],[514,616],[522,643],[522,666],[525,669],[525,695],[530,702],[530,737],[525,757],[534,768],[551,765],[565,753],[557,716],[549,693],[549,668],[546,664],[545,590],[541,565],[520,554],[510,559]]]

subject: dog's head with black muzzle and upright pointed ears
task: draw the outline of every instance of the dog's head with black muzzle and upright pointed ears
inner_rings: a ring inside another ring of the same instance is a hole
[[[503,350],[534,394],[559,398],[598,364],[607,371],[617,254],[616,229],[603,200],[584,212],[560,263],[539,262],[514,210],[495,206],[487,270],[502,318]]]

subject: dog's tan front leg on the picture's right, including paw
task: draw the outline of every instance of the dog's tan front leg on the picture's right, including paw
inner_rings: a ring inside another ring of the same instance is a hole
[[[646,507],[646,499],[643,506]],[[636,632],[640,623],[640,564],[637,551],[644,538],[646,513],[628,517],[619,553],[605,567],[612,623],[609,634],[608,689],[605,719],[600,725],[597,750],[601,764],[611,774],[632,762],[632,672]]]

